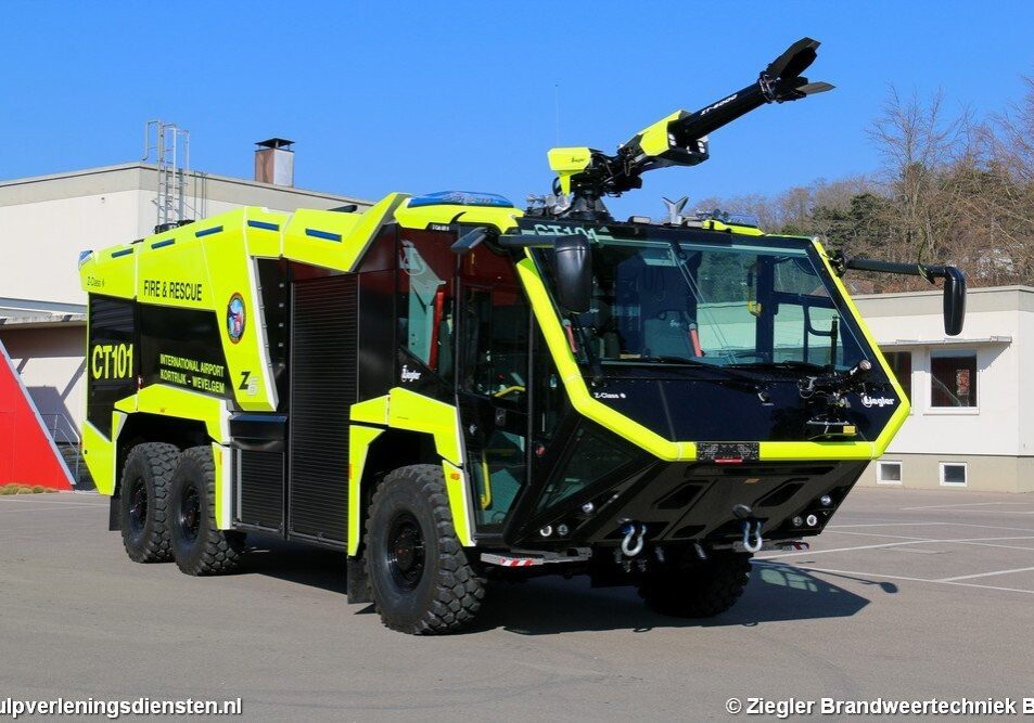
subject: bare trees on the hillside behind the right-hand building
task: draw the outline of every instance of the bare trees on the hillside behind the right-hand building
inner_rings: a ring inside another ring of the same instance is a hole
[[[698,208],[749,212],[773,232],[819,234],[852,255],[959,264],[972,285],[1034,282],[1034,77],[1008,112],[974,121],[939,91],[891,87],[867,130],[875,176],[818,179],[774,196],[707,198]],[[924,288],[918,279],[858,280],[867,289]]]

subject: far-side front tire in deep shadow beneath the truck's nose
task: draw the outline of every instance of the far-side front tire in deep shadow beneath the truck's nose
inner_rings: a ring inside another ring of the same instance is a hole
[[[711,618],[736,604],[750,572],[749,553],[713,553],[703,563],[648,573],[639,595],[662,615]]]

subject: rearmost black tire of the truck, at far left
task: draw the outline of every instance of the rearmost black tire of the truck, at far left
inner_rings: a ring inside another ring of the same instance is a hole
[[[179,449],[163,442],[137,444],[123,466],[119,514],[123,545],[135,563],[167,563],[168,488]]]

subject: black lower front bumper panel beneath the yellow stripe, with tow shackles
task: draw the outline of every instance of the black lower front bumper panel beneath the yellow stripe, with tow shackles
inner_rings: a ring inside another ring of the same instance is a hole
[[[865,470],[868,461],[663,462],[585,421],[592,437],[614,450],[607,460],[587,459],[593,448],[569,446],[548,478],[527,489],[523,505],[505,531],[511,545],[575,546],[616,543],[625,521],[646,525],[649,543],[729,544],[742,538],[732,508],[746,505],[766,539],[818,534]],[[609,439],[608,439],[609,438]],[[589,439],[586,435],[583,439]],[[617,455],[620,452],[620,455]],[[572,473],[573,469],[578,473]],[[573,477],[585,485],[569,489]],[[567,487],[565,487],[567,486]],[[829,495],[831,504],[819,499]],[[814,515],[815,525],[795,525]],[[566,529],[542,537],[546,527]]]

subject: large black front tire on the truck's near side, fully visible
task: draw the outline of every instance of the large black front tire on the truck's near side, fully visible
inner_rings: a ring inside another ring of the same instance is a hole
[[[413,635],[450,633],[473,621],[485,580],[456,537],[442,467],[387,475],[370,502],[366,559],[383,623]]]

